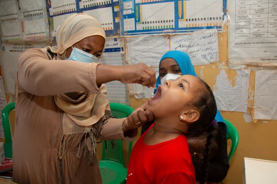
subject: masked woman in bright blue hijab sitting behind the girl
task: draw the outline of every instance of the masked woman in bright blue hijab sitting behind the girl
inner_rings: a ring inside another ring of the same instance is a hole
[[[180,75],[193,75],[196,76],[193,65],[189,56],[182,51],[169,51],[163,55],[160,60],[159,65],[159,76],[156,81],[156,88],[154,94],[159,85],[161,85],[164,80],[174,80]],[[216,122],[218,124],[218,134],[216,136],[217,148],[215,149],[214,156],[209,161],[209,171],[207,174],[207,181],[209,182],[221,182],[227,175],[229,169],[228,154],[227,154],[227,139],[226,139],[226,125],[224,123],[223,117],[220,114],[219,110],[215,117],[216,121],[211,122],[213,126]],[[146,123],[142,128],[142,134],[151,126],[153,122]],[[188,138],[188,145],[191,150],[192,162],[195,168],[196,174],[196,183],[201,180],[200,176],[202,175],[202,160],[199,159],[200,154],[196,154],[193,148],[201,150],[199,147],[204,147],[203,144],[199,142],[205,142],[206,137],[192,137]],[[202,141],[204,140],[204,141]],[[200,156],[201,157],[201,156]]]

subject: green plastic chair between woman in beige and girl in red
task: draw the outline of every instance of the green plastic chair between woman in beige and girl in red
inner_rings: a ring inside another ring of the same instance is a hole
[[[110,102],[111,113],[115,118],[124,118],[133,112],[128,105]],[[130,156],[132,142],[129,142]],[[103,141],[102,159],[99,167],[103,184],[119,184],[125,181],[127,168],[124,167],[122,140]]]

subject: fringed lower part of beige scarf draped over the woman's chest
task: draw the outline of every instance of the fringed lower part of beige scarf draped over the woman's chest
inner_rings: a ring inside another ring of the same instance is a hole
[[[111,117],[106,86],[101,85],[100,90],[100,94],[84,91],[59,94],[54,97],[56,105],[64,111],[59,159],[63,157],[66,143],[75,134],[80,142],[77,156],[81,156],[81,138],[85,135],[84,146],[90,152],[90,163],[94,162],[97,138],[101,135],[103,123]],[[73,95],[75,95],[74,98]]]

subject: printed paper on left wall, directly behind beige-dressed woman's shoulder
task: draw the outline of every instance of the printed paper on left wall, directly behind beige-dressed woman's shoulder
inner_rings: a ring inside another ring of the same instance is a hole
[[[4,79],[4,87],[6,93],[14,94],[15,84],[16,84],[16,73],[17,73],[17,63],[20,54],[29,48],[42,48],[45,47],[43,44],[34,45],[14,45],[14,44],[4,44],[2,46],[1,52],[1,66],[2,74]]]

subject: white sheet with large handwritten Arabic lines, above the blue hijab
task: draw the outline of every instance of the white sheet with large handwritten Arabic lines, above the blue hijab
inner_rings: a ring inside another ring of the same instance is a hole
[[[171,50],[186,52],[193,65],[207,65],[219,60],[217,30],[172,36],[170,47]]]

